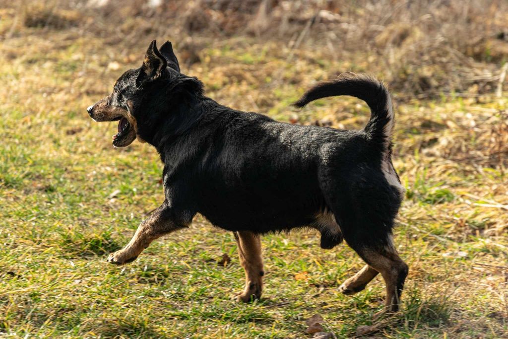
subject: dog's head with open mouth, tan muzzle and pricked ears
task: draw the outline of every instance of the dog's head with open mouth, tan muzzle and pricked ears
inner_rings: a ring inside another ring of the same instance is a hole
[[[156,91],[155,84],[178,78],[179,74],[180,67],[171,43],[166,41],[158,50],[154,40],[146,51],[143,65],[123,73],[116,80],[113,93],[86,110],[95,121],[118,121],[113,146],[126,147],[139,137],[138,126],[146,118],[139,112],[143,98]]]

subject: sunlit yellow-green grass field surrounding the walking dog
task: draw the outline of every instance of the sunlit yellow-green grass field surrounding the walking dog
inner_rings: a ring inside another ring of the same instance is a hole
[[[172,26],[145,29],[155,20],[146,13],[115,27],[90,12],[4,5],[0,337],[310,338],[305,321],[319,314],[336,338],[372,324],[360,336],[508,338],[508,100],[495,94],[504,61],[495,48],[483,58],[463,56],[493,70],[483,82],[450,73],[446,84],[414,88],[410,76],[393,80],[400,70],[374,66],[374,53],[339,57],[326,42],[316,47],[307,21],[295,28],[292,46],[243,33],[175,39],[182,72],[200,78],[208,96],[281,121],[361,129],[369,111],[359,100],[331,98],[303,110],[291,103],[343,71],[387,77],[397,119],[394,166],[407,190],[395,241],[410,270],[401,311],[375,322],[384,282],[340,294],[363,262],[345,244],[320,249],[308,230],[263,237],[265,290],[251,304],[231,299],[243,287],[233,234],[201,216],[129,265],[106,263],[163,201],[162,164],[147,144],[114,149],[116,125],[93,122],[85,109],[141,65],[153,38],[174,39]],[[127,35],[132,26],[143,33]],[[439,67],[429,61],[418,70],[438,77]],[[217,264],[224,254],[231,262]]]

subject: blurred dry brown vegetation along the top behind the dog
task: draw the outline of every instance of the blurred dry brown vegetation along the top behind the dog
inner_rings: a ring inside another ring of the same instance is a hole
[[[129,57],[152,37],[168,37],[185,65],[204,47],[274,42],[347,60],[383,74],[404,98],[493,93],[508,55],[503,0],[108,0],[6,2],[0,37],[66,32],[66,41],[102,38]],[[35,29],[34,29],[35,28]],[[235,40],[236,38],[236,40]],[[252,60],[254,62],[256,60]],[[319,65],[319,63],[318,63]]]

